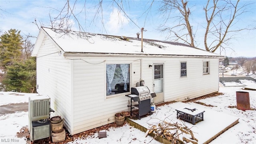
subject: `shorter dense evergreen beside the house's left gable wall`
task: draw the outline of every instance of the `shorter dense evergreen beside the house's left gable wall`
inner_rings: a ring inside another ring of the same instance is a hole
[[[15,61],[6,66],[6,74],[2,81],[6,91],[36,92],[36,62],[32,59]]]

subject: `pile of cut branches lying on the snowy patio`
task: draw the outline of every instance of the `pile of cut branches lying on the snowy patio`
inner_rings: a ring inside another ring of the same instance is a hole
[[[190,128],[184,124],[179,124],[178,122],[171,123],[161,120],[159,123],[149,125],[151,128],[148,128],[145,133],[145,137],[154,132],[155,138],[157,136],[160,136],[161,138],[164,137],[171,141],[172,144],[198,143],[198,139],[194,137],[192,130],[190,130]]]

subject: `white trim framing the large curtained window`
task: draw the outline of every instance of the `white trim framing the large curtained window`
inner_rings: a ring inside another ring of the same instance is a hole
[[[106,73],[107,73],[107,72],[106,72],[106,66],[107,66],[108,64],[129,64],[129,83],[130,83],[130,84],[129,84],[129,92],[123,92],[123,93],[112,94],[112,95],[107,95],[107,93],[106,93],[107,84],[105,84],[105,88],[104,88],[105,99],[116,98],[116,97],[124,96],[125,94],[130,94],[130,93],[131,93],[131,84],[132,84],[132,82],[131,82],[131,80],[132,80],[132,78],[131,78],[131,76],[132,76],[132,74],[131,74],[131,72],[132,72],[132,62],[127,62],[127,61],[106,62],[106,63],[104,64],[104,67],[105,67],[104,83],[106,83],[106,81],[107,81],[107,78],[106,78]]]

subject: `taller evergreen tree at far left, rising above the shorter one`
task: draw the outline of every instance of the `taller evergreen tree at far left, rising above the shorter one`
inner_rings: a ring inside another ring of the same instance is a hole
[[[0,36],[0,60],[3,66],[10,66],[22,54],[22,36],[20,31],[10,29]]]

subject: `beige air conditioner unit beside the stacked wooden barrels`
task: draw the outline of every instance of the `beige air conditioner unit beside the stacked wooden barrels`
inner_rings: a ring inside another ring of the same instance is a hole
[[[28,132],[30,140],[50,137],[50,97],[33,96],[28,98]]]

